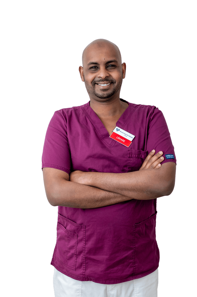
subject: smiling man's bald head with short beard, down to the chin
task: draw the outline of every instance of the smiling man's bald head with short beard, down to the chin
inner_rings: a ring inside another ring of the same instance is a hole
[[[95,41],[84,50],[83,67],[79,67],[90,99],[104,102],[120,98],[126,64],[121,64],[121,55],[116,45],[109,41]]]

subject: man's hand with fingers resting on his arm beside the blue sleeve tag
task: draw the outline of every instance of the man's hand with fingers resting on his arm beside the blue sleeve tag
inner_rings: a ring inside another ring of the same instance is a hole
[[[153,149],[150,154],[148,154],[139,170],[160,168],[160,163],[164,161],[164,157],[161,157],[162,155],[162,151],[159,151],[157,154],[155,154],[155,150]]]

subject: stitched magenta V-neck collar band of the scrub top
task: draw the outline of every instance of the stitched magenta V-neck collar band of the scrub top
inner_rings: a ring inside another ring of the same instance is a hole
[[[124,99],[120,99],[123,102],[127,102]],[[129,106],[126,108],[124,113],[120,116],[118,121],[116,122],[116,126],[124,129],[124,126],[129,121],[130,117],[132,116],[132,113],[134,112],[135,108],[132,106],[130,102],[127,102]],[[94,110],[90,107],[90,101],[87,102],[86,106],[82,108],[84,112],[86,113],[87,117],[91,121],[91,123],[94,125],[95,129],[97,130],[98,134],[100,135],[100,138],[109,146],[111,147],[113,143],[116,140],[113,140],[109,137],[109,133],[105,126],[103,125],[102,121],[99,119],[97,114],[94,112]]]

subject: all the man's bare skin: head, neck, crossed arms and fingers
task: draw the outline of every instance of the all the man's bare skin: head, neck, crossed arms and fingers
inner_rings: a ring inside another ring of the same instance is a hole
[[[109,135],[128,107],[120,100],[126,64],[122,63],[118,47],[107,40],[95,40],[84,50],[83,67],[79,67],[85,83],[90,107],[95,111]],[[108,84],[99,86],[98,84]],[[164,160],[163,152],[153,150],[139,171],[129,173],[71,172],[43,168],[44,186],[53,206],[96,208],[118,202],[148,200],[170,195],[174,189],[176,164]]]

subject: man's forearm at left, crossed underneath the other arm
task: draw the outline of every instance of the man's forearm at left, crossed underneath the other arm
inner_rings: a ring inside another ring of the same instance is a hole
[[[48,187],[47,199],[53,206],[72,208],[97,208],[131,200],[131,198],[121,194],[65,179],[58,181],[58,183],[54,182],[50,188]]]

